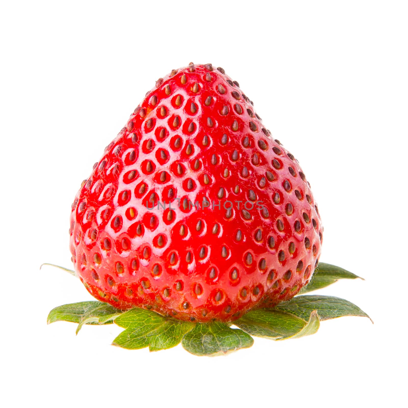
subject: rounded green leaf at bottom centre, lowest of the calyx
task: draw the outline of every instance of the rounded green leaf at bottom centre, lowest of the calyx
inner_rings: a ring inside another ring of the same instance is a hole
[[[239,329],[231,329],[226,324],[212,322],[197,323],[182,340],[182,346],[191,354],[219,355],[239,348],[251,347],[253,338]]]

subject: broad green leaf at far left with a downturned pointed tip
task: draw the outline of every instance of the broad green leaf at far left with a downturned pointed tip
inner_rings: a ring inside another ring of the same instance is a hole
[[[111,324],[121,313],[107,303],[91,300],[53,308],[47,317],[47,323],[60,321],[78,323],[76,330],[78,334],[83,324]]]

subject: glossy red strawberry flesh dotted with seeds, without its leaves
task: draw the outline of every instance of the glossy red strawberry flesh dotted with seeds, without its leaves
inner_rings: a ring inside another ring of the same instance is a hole
[[[160,78],[106,147],[69,233],[97,299],[228,321],[307,284],[322,231],[297,160],[238,83],[190,64]]]

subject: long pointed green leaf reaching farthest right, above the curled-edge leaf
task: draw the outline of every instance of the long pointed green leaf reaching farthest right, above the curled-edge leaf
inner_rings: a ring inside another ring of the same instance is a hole
[[[320,320],[334,319],[341,316],[370,317],[358,306],[335,296],[303,295],[295,296],[288,302],[281,302],[273,309],[292,313],[301,319],[309,319],[313,310],[317,310]],[[371,319],[370,319],[371,320]]]

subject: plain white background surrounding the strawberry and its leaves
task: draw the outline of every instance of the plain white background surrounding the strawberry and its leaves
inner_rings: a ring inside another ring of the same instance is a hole
[[[3,2],[4,406],[402,406],[406,388],[407,3]],[[111,346],[115,325],[47,326],[92,299],[71,267],[70,207],[157,78],[222,66],[301,163],[321,261],[366,278],[321,294],[373,318],[226,357]],[[378,405],[377,405],[378,404]]]

